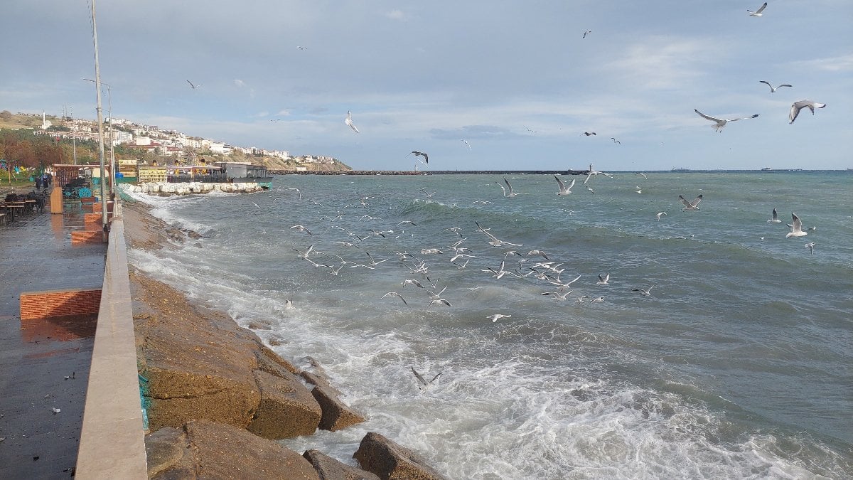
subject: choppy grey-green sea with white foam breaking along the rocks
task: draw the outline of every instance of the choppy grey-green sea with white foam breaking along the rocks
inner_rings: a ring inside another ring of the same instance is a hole
[[[610,174],[125,193],[200,234],[130,261],[368,419],[298,452],[357,465],[375,431],[459,479],[853,478],[853,173]]]

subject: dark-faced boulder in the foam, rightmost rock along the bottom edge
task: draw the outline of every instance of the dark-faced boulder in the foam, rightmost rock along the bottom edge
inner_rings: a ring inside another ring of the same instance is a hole
[[[366,471],[394,480],[439,480],[444,477],[427,465],[420,455],[409,448],[397,445],[375,432],[362,439],[358,450],[352,455]]]

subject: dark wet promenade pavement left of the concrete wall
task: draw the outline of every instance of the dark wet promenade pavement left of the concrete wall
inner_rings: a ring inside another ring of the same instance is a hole
[[[107,244],[71,244],[101,225],[80,202],[63,210],[0,223],[0,478],[68,478],[77,463],[96,315],[20,319],[21,292],[102,288]]]

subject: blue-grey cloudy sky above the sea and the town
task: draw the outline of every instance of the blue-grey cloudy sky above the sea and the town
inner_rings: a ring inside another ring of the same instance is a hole
[[[853,2],[768,3],[96,0],[96,25],[113,117],[356,169],[853,168]],[[96,119],[90,3],[0,10],[0,110]]]

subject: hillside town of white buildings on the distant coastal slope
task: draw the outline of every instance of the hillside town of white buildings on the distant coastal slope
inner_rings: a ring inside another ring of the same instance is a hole
[[[19,113],[17,115],[38,117],[37,114]],[[32,126],[33,133],[36,135],[49,135],[54,138],[81,142],[96,142],[98,140],[96,120],[75,119],[64,114],[61,117],[55,117],[46,115],[44,112],[40,117],[40,124],[35,121],[30,122],[31,125],[36,124]],[[104,128],[104,140],[107,148],[112,141],[113,147],[121,147],[125,155],[128,152],[139,154],[134,156],[139,158],[142,163],[159,161],[162,164],[170,165],[192,165],[204,156],[219,157],[220,159],[236,156],[244,161],[264,165],[270,170],[350,169],[350,167],[330,156],[294,156],[290,155],[287,150],[261,149],[255,146],[241,147],[210,138],[189,136],[177,130],[160,128],[160,126],[139,124],[132,120],[107,118],[104,120]]]

